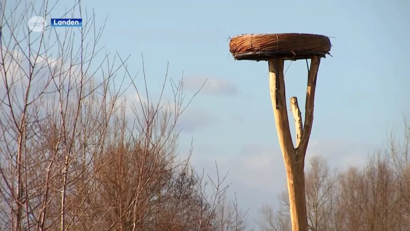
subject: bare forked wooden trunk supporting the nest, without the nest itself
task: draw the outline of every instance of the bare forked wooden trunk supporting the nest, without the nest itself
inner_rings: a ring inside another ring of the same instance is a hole
[[[312,130],[316,78],[320,64],[320,57],[312,57],[311,67],[308,74],[305,122],[303,128],[297,99],[296,97],[291,98],[291,107],[296,123],[296,148],[293,145],[289,127],[288,110],[286,109],[283,64],[283,59],[269,60],[269,86],[271,90],[272,106],[275,115],[279,145],[286,168],[286,178],[288,179],[292,230],[308,231],[304,186],[304,158]]]

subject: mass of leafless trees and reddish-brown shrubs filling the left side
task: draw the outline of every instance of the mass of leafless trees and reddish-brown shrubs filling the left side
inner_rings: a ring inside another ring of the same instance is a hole
[[[49,17],[53,4],[2,4],[1,228],[218,230],[215,218],[229,184],[219,172],[209,181],[197,174],[192,149],[178,160],[175,127],[196,94],[185,101],[183,81],[169,79],[167,71],[152,102],[144,70],[140,92],[127,59],[99,54],[104,27],[96,27],[81,2],[61,17],[83,18],[83,27],[44,32],[18,27],[27,25],[31,10]],[[166,86],[171,100],[164,100]],[[131,118],[124,94],[130,89],[139,98]],[[242,230],[234,208],[235,230]]]

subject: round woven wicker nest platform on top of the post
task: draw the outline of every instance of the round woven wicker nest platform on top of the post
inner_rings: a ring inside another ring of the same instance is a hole
[[[231,39],[229,50],[235,60],[310,59],[330,54],[329,37],[318,34],[242,34]]]

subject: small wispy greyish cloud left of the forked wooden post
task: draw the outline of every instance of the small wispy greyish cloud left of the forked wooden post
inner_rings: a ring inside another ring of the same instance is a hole
[[[205,83],[205,85],[203,85],[203,83]],[[203,85],[201,92],[213,95],[236,95],[238,93],[235,83],[223,79],[196,76],[184,78],[183,84],[186,89],[192,90],[199,90]]]

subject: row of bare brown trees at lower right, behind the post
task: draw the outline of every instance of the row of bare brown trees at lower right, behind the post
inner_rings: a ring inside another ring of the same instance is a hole
[[[332,174],[323,158],[314,157],[306,172],[306,210],[310,230],[406,230],[408,214],[403,179],[387,155],[377,152],[362,169]],[[261,228],[284,230],[289,219],[286,192],[280,209],[264,207]]]

